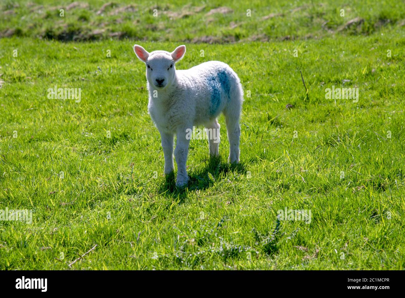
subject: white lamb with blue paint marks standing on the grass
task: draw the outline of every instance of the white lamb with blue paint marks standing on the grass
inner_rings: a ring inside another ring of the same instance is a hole
[[[209,154],[219,155],[220,125],[217,117],[220,113],[224,113],[228,131],[228,162],[239,163],[243,88],[232,68],[223,62],[209,61],[188,70],[176,70],[176,62],[185,54],[185,45],[171,53],[148,53],[140,45],[134,45],[134,52],[146,64],[148,111],[162,139],[166,175],[174,171],[173,136],[177,135],[174,151],[177,187],[188,183],[186,161],[190,134],[187,132],[193,126],[205,126],[209,136]],[[214,130],[218,133],[213,133]]]

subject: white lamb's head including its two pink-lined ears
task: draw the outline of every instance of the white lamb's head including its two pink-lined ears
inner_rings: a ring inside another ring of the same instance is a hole
[[[185,53],[185,45],[177,47],[173,52],[153,51],[148,53],[140,45],[134,45],[134,52],[139,60],[146,64],[146,79],[155,89],[170,86],[175,79],[175,63]]]

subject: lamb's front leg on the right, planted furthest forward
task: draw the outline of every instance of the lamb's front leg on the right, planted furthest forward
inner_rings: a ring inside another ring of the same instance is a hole
[[[191,128],[190,128],[191,129]],[[188,155],[188,146],[190,140],[186,137],[186,129],[179,129],[177,131],[175,158],[177,163],[177,179],[176,185],[183,186],[188,183],[188,175],[186,170],[186,162]]]

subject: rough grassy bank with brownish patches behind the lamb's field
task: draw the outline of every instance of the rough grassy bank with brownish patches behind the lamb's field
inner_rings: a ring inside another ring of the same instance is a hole
[[[0,17],[4,19],[0,36],[229,43],[316,39],[334,33],[368,35],[382,27],[405,24],[405,2],[392,0],[358,0],[356,4],[344,0],[279,0],[268,4],[262,0],[192,0],[188,4],[183,0],[119,0],[102,10],[107,1],[79,1],[81,5],[69,6],[71,2],[5,0],[0,5]],[[223,9],[212,11],[218,8]]]

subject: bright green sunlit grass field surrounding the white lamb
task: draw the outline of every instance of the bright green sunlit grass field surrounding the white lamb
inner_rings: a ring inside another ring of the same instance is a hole
[[[115,2],[109,11],[130,3]],[[404,268],[403,3],[359,1],[340,17],[335,1],[252,1],[250,23],[241,21],[249,8],[232,2],[220,17],[207,16],[213,1],[170,20],[203,4],[164,4],[153,18],[145,1],[123,23],[106,13],[102,34],[74,42],[58,38],[55,15],[21,20],[25,3],[0,12],[0,32],[17,28],[0,39],[0,210],[32,210],[32,223],[0,220],[0,269]],[[94,15],[102,2],[89,3],[70,20],[77,36],[104,20]],[[88,19],[78,23],[81,13]],[[262,19],[270,13],[282,15]],[[47,26],[55,35],[41,35]],[[177,69],[220,60],[237,72],[247,95],[241,164],[226,163],[221,116],[220,158],[208,158],[207,140],[191,140],[188,187],[164,177],[135,42],[148,51],[186,42]],[[81,101],[49,99],[55,85],[81,88]],[[358,101],[326,99],[333,86],[358,88]],[[285,209],[311,220],[278,220]]]

